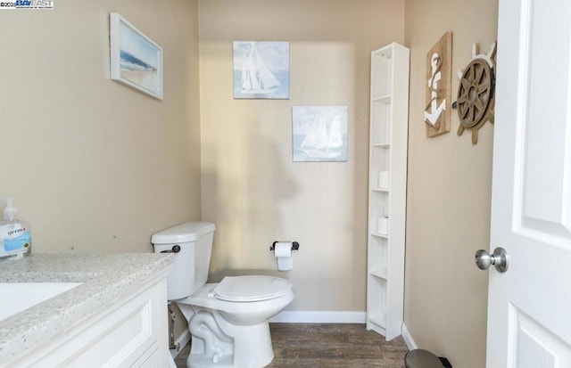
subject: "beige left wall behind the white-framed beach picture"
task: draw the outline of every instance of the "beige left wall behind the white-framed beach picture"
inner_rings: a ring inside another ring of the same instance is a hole
[[[164,50],[164,100],[109,77],[109,12]],[[0,12],[0,195],[35,252],[150,252],[201,215],[197,3],[54,2]]]

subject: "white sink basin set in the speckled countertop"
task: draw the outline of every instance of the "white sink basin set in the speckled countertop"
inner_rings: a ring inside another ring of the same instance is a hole
[[[81,282],[1,282],[0,321],[71,290]]]

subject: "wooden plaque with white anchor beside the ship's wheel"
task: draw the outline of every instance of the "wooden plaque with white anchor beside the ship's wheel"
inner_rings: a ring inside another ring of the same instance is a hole
[[[451,126],[452,33],[426,54],[426,136],[450,132]]]

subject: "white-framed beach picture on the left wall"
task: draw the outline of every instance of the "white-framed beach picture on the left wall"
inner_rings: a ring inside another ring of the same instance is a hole
[[[111,78],[162,100],[162,48],[121,17],[110,13]]]

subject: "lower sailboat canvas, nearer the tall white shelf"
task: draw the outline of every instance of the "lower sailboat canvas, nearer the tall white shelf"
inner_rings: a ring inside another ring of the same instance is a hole
[[[294,106],[294,162],[347,160],[347,106]]]

